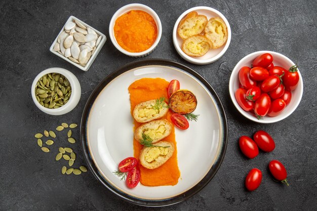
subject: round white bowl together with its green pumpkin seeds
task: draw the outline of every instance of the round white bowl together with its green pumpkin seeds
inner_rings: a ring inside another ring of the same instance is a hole
[[[70,71],[52,67],[35,77],[31,95],[35,105],[43,112],[62,115],[78,104],[81,98],[81,85]]]

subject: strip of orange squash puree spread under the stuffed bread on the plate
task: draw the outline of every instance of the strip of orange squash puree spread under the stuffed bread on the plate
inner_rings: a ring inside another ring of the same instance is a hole
[[[134,107],[143,101],[159,99],[160,97],[167,98],[167,88],[169,82],[162,78],[141,78],[134,81],[129,87],[131,114],[133,115]],[[171,111],[163,118],[171,122]],[[134,130],[142,123],[134,120]],[[161,185],[176,185],[180,172],[177,164],[177,148],[175,141],[175,129],[172,126],[172,133],[164,139],[164,141],[172,142],[175,146],[175,151],[170,159],[163,165],[153,170],[149,170],[139,164],[141,177],[140,182],[145,186],[161,186]],[[134,157],[139,159],[142,145],[133,139]]]

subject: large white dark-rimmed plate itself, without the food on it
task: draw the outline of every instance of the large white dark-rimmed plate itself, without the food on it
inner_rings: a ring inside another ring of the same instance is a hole
[[[185,131],[175,130],[181,173],[175,186],[139,184],[129,189],[113,174],[121,160],[134,154],[128,87],[143,77],[177,79],[181,89],[197,98],[197,122],[191,121]],[[217,94],[202,76],[175,62],[143,60],[118,69],[97,86],[86,104],[81,134],[88,165],[109,190],[132,203],[163,206],[192,196],[216,174],[227,144],[227,122]]]

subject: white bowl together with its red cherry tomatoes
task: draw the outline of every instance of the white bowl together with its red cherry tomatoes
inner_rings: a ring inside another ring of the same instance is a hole
[[[273,123],[291,115],[303,95],[298,66],[286,56],[258,51],[245,56],[232,70],[230,98],[245,117]]]

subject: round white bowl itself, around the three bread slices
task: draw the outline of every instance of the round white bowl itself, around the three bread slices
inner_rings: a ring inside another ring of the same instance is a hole
[[[177,27],[178,27],[179,22],[188,13],[190,13],[192,11],[196,11],[199,15],[205,15],[208,18],[208,20],[210,18],[214,18],[214,17],[221,18],[224,21],[224,23],[226,24],[227,29],[228,29],[228,39],[227,39],[226,44],[218,49],[209,50],[204,56],[201,56],[201,57],[191,57],[191,56],[186,55],[181,49],[184,40],[177,35]],[[189,10],[186,10],[185,12],[183,12],[183,14],[181,14],[179,16],[179,18],[177,19],[177,21],[174,25],[174,29],[173,29],[173,43],[174,43],[174,47],[175,47],[177,53],[183,59],[185,59],[186,61],[193,63],[193,64],[203,65],[203,64],[210,64],[210,63],[217,61],[227,51],[227,49],[230,45],[230,40],[231,40],[231,28],[230,28],[229,22],[224,17],[224,15],[222,15],[218,10],[215,10],[213,8],[210,8],[210,7],[194,7],[194,8],[191,8]]]

